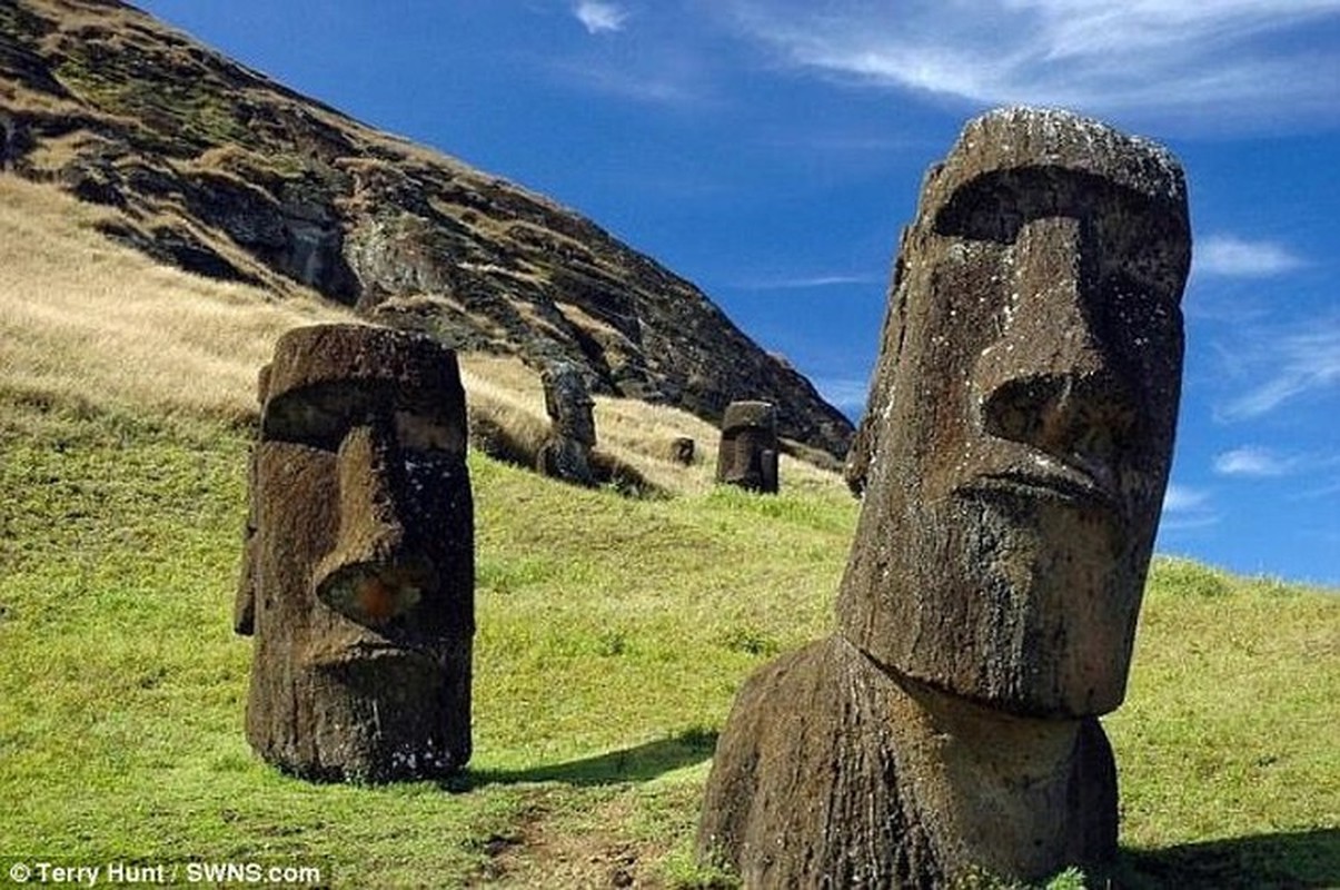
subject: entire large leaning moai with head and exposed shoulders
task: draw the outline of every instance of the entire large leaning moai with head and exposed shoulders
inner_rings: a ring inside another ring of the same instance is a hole
[[[904,232],[838,634],[741,689],[698,846],[749,887],[1036,881],[1116,852],[1190,263],[1163,149],[972,121]]]

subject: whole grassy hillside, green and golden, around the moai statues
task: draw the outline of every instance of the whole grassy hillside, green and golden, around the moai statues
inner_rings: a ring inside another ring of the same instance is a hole
[[[610,402],[602,436],[673,497],[473,453],[469,772],[287,779],[243,739],[251,643],[229,617],[255,367],[330,310],[135,265],[83,240],[83,208],[29,189],[0,178],[0,873],[256,861],[340,887],[708,883],[689,848],[716,732],[748,672],[831,627],[856,511],[840,481],[788,462],[781,497],[716,491],[702,464],[655,456],[710,430]],[[472,401],[533,421],[524,370],[469,367]],[[1107,720],[1126,883],[1340,886],[1337,725],[1340,598],[1160,559]]]

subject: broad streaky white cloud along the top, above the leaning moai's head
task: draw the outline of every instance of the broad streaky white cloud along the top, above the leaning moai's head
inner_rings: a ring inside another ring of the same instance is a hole
[[[973,103],[1278,119],[1335,113],[1340,0],[725,0],[792,64]]]

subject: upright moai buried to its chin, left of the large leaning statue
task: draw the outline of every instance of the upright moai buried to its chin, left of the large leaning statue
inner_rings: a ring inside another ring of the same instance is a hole
[[[296,328],[260,397],[234,613],[256,638],[252,748],[315,780],[461,769],[474,531],[456,354],[390,328]]]

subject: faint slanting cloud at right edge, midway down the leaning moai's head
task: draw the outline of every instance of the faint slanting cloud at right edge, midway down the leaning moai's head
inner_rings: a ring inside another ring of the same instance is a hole
[[[1221,407],[1219,420],[1253,420],[1304,394],[1340,387],[1340,319],[1274,338],[1262,331],[1261,340],[1253,355],[1238,359],[1261,382]]]

